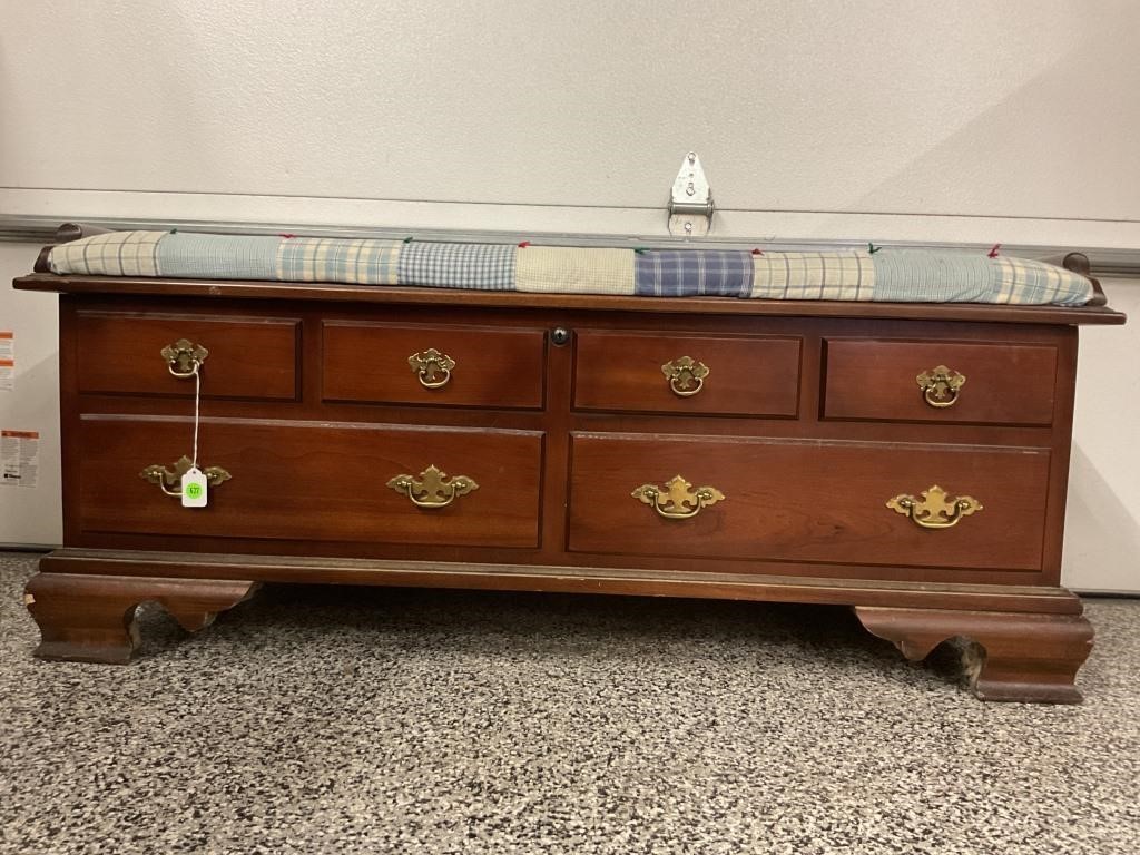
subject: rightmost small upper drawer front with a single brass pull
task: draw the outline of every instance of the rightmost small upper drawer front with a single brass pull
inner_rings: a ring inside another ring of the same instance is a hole
[[[918,383],[945,366],[966,377],[956,390]],[[832,339],[826,342],[825,418],[1049,425],[1057,349],[1036,344],[967,344]]]

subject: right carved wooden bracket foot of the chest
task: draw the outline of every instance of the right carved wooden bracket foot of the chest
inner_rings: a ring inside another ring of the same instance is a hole
[[[950,638],[967,638],[983,658],[967,663],[984,701],[1080,703],[1076,673],[1092,651],[1092,626],[1080,614],[1026,614],[856,606],[869,632],[912,661]]]

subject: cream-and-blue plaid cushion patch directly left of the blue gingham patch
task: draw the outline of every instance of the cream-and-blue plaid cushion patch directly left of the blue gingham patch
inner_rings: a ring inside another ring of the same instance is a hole
[[[277,247],[276,275],[284,282],[396,285],[401,246],[397,241],[287,238]]]

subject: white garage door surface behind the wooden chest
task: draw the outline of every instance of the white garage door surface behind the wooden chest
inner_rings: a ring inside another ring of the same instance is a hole
[[[1140,251],[1138,39],[1134,0],[0,0],[0,215],[658,236],[694,148],[718,237]],[[39,370],[0,406],[50,421],[48,299],[0,293]],[[1138,341],[1084,335],[1077,587],[1140,588]]]

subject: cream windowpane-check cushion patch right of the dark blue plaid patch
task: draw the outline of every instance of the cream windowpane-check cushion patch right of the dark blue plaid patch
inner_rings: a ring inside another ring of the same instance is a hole
[[[871,300],[874,266],[865,251],[749,255],[759,300]]]

